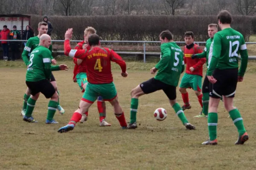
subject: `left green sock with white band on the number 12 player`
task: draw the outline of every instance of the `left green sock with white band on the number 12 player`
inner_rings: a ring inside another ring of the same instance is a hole
[[[211,141],[217,138],[217,125],[218,125],[218,114],[209,113],[208,114],[208,130],[209,130],[209,137]]]

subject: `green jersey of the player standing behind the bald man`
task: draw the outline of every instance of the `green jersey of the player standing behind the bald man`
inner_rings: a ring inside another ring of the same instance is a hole
[[[36,37],[31,37],[29,38],[29,40],[26,42],[26,46],[22,52],[22,59],[25,62],[26,65],[29,65],[29,53],[31,51],[33,51],[38,45],[39,45],[40,39],[38,38],[38,36]],[[49,46],[49,50],[50,50],[50,57],[51,59],[53,59],[52,57],[52,45]]]

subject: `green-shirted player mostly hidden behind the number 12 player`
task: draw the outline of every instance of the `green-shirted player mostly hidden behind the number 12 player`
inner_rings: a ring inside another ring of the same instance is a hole
[[[218,32],[218,24],[213,24],[213,23],[209,24],[208,35],[210,38],[206,41],[204,51],[200,54],[193,54],[191,57],[192,59],[206,58],[207,68],[209,67],[209,62],[211,61],[211,58],[212,58],[212,48],[210,48],[210,47],[212,45],[213,36],[216,32]],[[194,117],[207,117],[208,116],[209,80],[208,80],[207,76],[205,76],[205,78],[204,78],[202,92],[203,92],[203,98],[202,98],[203,111],[198,116],[194,116]]]

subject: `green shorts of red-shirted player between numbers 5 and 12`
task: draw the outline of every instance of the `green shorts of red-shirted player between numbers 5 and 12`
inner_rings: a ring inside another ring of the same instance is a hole
[[[202,77],[185,73],[181,79],[180,88],[192,88],[194,91],[201,91]]]

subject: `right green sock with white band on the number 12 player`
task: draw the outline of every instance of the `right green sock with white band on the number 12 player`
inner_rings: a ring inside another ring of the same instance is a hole
[[[246,130],[244,128],[243,118],[241,117],[239,111],[237,109],[234,109],[230,111],[229,114],[233,120],[233,123],[236,125],[239,136],[242,136],[246,132]]]

